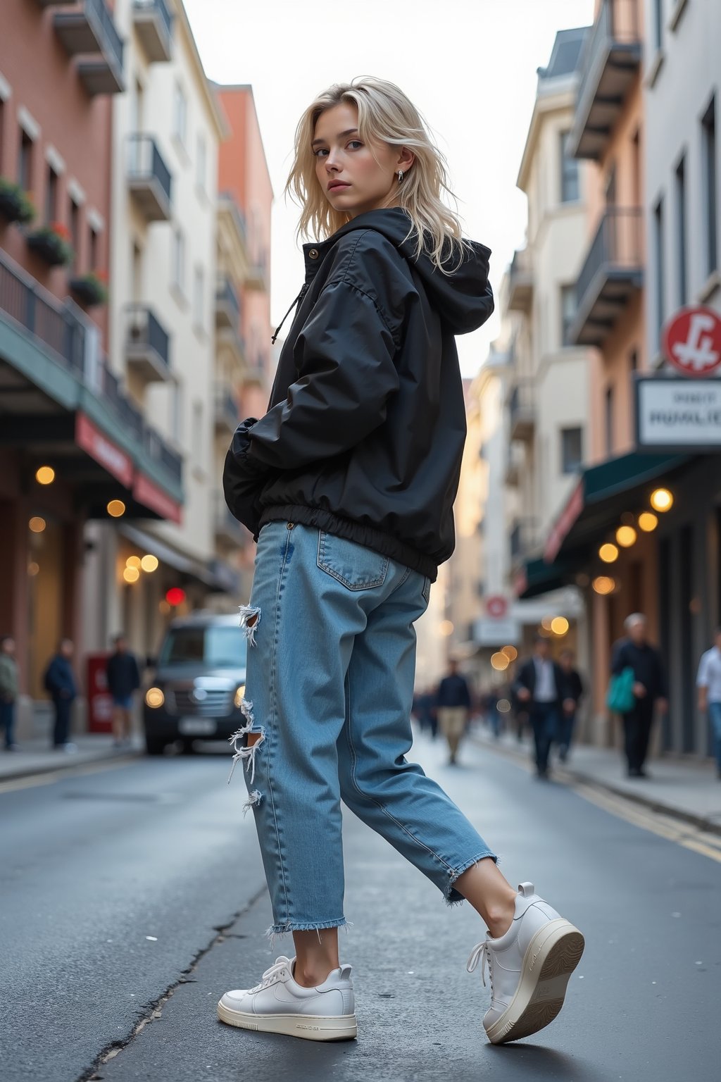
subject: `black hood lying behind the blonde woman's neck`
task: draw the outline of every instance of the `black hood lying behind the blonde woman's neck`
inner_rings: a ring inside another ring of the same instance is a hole
[[[454,334],[465,334],[481,327],[493,312],[493,292],[489,285],[491,249],[471,240],[464,247],[457,269],[443,274],[426,251],[416,259],[415,240],[408,237],[411,221],[400,207],[358,214],[343,225],[325,243],[353,229],[375,229],[398,248],[420,276],[428,299]],[[452,256],[452,264],[457,255]]]

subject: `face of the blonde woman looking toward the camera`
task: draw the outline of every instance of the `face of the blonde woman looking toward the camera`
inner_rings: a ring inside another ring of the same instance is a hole
[[[316,121],[312,150],[316,176],[334,210],[355,217],[369,210],[392,207],[398,171],[405,172],[413,155],[405,147],[374,143],[358,135],[358,109],[345,102],[321,113]]]

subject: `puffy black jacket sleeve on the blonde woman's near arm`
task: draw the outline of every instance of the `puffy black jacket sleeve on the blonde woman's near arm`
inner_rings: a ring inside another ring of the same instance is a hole
[[[296,470],[359,444],[399,387],[396,347],[369,293],[345,280],[326,286],[296,342],[298,379],[250,430],[248,459],[258,470]]]

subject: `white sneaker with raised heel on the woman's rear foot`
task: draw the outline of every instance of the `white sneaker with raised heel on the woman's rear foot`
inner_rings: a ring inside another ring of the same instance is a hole
[[[467,969],[483,959],[491,978],[491,1006],[483,1028],[492,1044],[536,1033],[556,1018],[563,1006],[565,986],[584,952],[584,937],[573,924],[534,893],[533,883],[521,883],[516,915],[498,939],[486,936],[473,947]]]

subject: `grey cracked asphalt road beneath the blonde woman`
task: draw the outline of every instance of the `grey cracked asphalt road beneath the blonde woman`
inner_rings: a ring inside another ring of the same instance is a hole
[[[359,1039],[315,1044],[216,1021],[255,984],[270,909],[244,786],[228,756],[138,761],[0,787],[3,1082],[710,1082],[721,1053],[721,862],[468,744],[414,755],[500,855],[585,933],[566,1006],[490,1046],[470,907],[346,814],[344,961]],[[110,1058],[108,1058],[108,1056]]]

